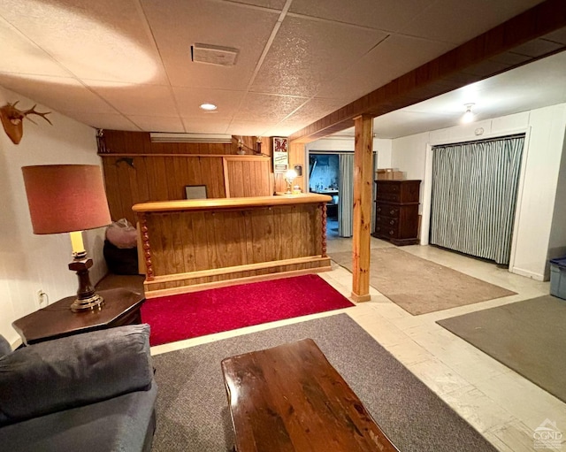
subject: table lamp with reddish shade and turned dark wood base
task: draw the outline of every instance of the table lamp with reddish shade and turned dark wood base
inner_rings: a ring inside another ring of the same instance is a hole
[[[79,290],[73,312],[100,310],[103,297],[90,283],[92,259],[82,242],[82,231],[111,223],[103,175],[97,165],[38,165],[22,167],[34,234],[71,233],[73,262]]]

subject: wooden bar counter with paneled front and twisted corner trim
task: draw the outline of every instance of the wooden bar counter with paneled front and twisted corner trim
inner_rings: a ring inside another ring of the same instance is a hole
[[[331,199],[300,194],[135,204],[146,297],[330,270]]]

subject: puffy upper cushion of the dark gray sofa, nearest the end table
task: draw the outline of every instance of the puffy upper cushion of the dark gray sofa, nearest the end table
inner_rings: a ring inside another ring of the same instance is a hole
[[[0,425],[147,389],[149,326],[46,341],[0,358]]]

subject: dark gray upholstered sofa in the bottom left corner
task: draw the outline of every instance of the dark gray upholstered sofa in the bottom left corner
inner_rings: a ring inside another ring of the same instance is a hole
[[[0,336],[0,448],[149,451],[157,386],[149,326],[119,326],[11,352]]]

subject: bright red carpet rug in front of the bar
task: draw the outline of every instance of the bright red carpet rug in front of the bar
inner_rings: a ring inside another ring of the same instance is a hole
[[[310,274],[150,298],[142,305],[142,321],[151,326],[153,346],[350,306]]]

